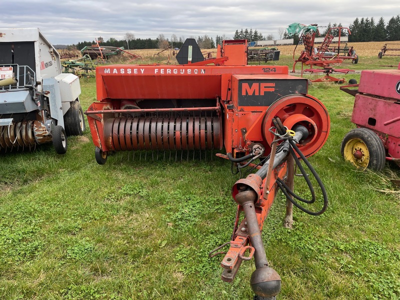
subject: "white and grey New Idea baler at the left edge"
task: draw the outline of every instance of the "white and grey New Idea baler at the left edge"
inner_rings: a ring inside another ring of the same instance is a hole
[[[0,29],[0,151],[51,142],[67,149],[82,134],[79,78],[61,74],[59,55],[38,28]]]

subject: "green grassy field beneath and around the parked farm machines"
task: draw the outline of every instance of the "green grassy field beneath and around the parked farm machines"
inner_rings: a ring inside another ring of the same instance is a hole
[[[342,67],[398,64],[399,57],[377,58],[383,43],[370,44],[357,43],[358,64]],[[290,69],[286,47],[276,64]],[[168,59],[163,53],[151,61],[158,50],[147,51],[132,52],[145,63]],[[95,100],[95,79],[80,82],[85,110]],[[263,229],[267,258],[282,279],[277,299],[398,299],[400,193],[390,179],[399,168],[361,172],[346,163],[340,143],[354,128],[354,98],[330,82],[312,84],[309,93],[331,118],[327,142],[309,159],[329,205],[319,217],[295,209],[288,230],[285,198],[277,195]],[[207,256],[232,231],[237,175],[230,163],[215,152],[182,161],[180,153],[154,154],[118,152],[98,165],[88,128],[68,138],[65,155],[51,145],[1,154],[0,298],[251,299],[252,261],[229,284],[220,280],[222,256]],[[307,195],[299,177],[295,191]]]

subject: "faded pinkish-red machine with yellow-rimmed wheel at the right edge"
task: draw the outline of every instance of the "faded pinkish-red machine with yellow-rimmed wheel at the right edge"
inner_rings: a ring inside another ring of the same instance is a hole
[[[400,166],[400,63],[396,70],[362,70],[359,84],[340,88],[355,96],[357,126],[343,138],[344,158],[361,169],[381,170],[385,160]]]

